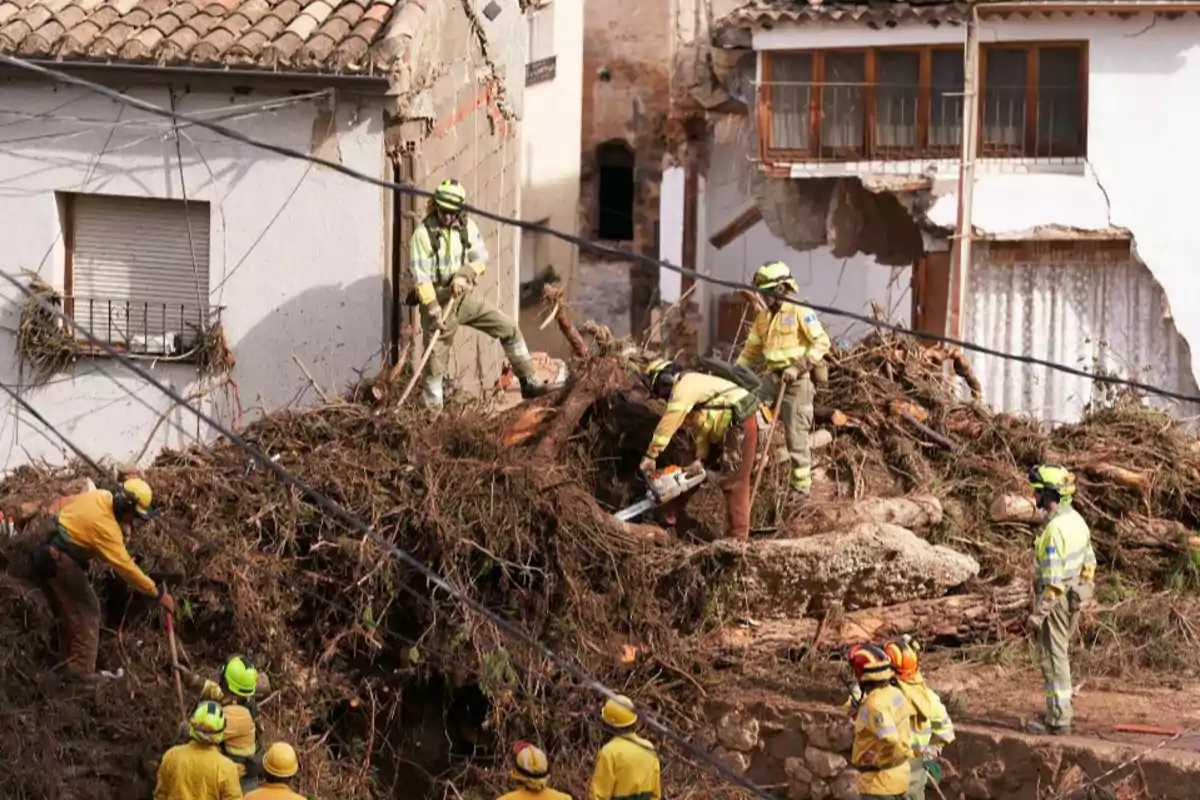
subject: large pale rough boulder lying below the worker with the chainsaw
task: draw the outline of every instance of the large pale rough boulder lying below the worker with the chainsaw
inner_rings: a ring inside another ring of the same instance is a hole
[[[744,610],[763,618],[941,597],[979,573],[968,555],[876,522],[806,539],[716,542],[697,552],[706,554],[732,564]]]

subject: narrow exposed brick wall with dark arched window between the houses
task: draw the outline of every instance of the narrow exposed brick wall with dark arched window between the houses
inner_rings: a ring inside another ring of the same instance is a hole
[[[671,107],[672,5],[667,0],[589,2],[583,24],[580,231],[598,237],[596,149],[620,140],[635,154],[635,194],[634,240],[618,246],[658,255],[659,193]],[[581,252],[580,273],[572,296],[584,315],[610,325],[617,335],[644,329],[658,290],[656,267]]]

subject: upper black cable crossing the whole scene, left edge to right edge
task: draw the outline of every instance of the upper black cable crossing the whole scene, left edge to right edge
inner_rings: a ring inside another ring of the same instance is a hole
[[[347,167],[346,164],[342,164],[342,163],[336,162],[336,161],[330,161],[328,158],[322,158],[320,156],[314,156],[314,155],[311,155],[311,154],[307,154],[307,152],[302,152],[300,150],[294,150],[292,148],[286,148],[283,145],[272,144],[270,142],[263,142],[262,139],[256,139],[256,138],[253,138],[251,136],[247,136],[247,134],[245,134],[245,133],[242,133],[240,131],[235,131],[235,130],[233,130],[230,127],[227,127],[224,125],[221,125],[218,122],[212,122],[210,120],[205,120],[205,119],[198,118],[198,116],[196,116],[193,114],[186,114],[184,112],[173,112],[169,108],[163,108],[161,106],[155,106],[154,103],[149,103],[149,102],[146,102],[144,100],[139,100],[137,97],[132,97],[130,95],[121,94],[121,92],[119,92],[119,91],[116,91],[114,89],[109,89],[108,86],[102,86],[101,84],[97,84],[97,83],[91,82],[91,80],[86,80],[84,78],[70,74],[67,72],[62,72],[60,70],[52,70],[52,68],[42,66],[40,64],[32,64],[31,61],[26,61],[24,59],[18,59],[18,58],[13,58],[11,55],[4,55],[4,54],[0,54],[0,64],[5,64],[5,65],[8,65],[8,66],[18,68],[18,70],[25,70],[26,72],[32,72],[35,74],[40,74],[40,76],[42,76],[44,78],[49,78],[49,79],[56,80],[59,83],[64,83],[64,84],[72,85],[72,86],[78,86],[80,89],[86,89],[86,90],[92,91],[92,92],[95,92],[97,95],[101,95],[103,97],[108,97],[109,100],[112,100],[114,102],[125,103],[125,104],[131,106],[133,108],[137,108],[137,109],[140,109],[143,112],[146,112],[148,114],[155,114],[157,116],[182,120],[184,122],[187,122],[188,125],[193,125],[196,127],[206,128],[209,131],[212,131],[214,133],[218,133],[218,134],[221,134],[221,136],[223,136],[226,138],[233,139],[234,142],[240,142],[240,143],[242,143],[245,145],[248,145],[251,148],[257,148],[259,150],[266,150],[268,152],[274,152],[276,155],[284,156],[284,157],[288,157],[288,158],[296,158],[296,160],[300,160],[300,161],[307,161],[310,163],[319,164],[322,167],[331,169],[332,172],[340,173],[340,174],[346,175],[348,178],[353,178],[353,179],[362,181],[365,184],[370,184],[372,186],[378,186],[379,188],[385,188],[385,190],[390,190],[390,191],[394,191],[394,192],[400,192],[402,194],[412,194],[414,197],[424,197],[424,198],[432,198],[433,197],[433,192],[431,192],[428,190],[422,190],[422,188],[419,188],[419,187],[413,186],[410,184],[397,184],[395,181],[384,180],[382,178],[374,178],[373,175],[367,175],[365,173],[360,173],[356,169]],[[678,272],[679,275],[683,275],[685,277],[695,278],[697,281],[703,281],[706,283],[712,283],[714,285],[725,287],[727,289],[738,289],[738,290],[752,291],[752,293],[756,293],[756,294],[762,295],[764,297],[770,297],[770,299],[775,299],[775,300],[790,300],[788,297],[785,297],[785,296],[782,296],[782,295],[780,295],[780,294],[778,294],[775,291],[768,291],[768,290],[764,290],[764,289],[760,289],[758,287],[756,287],[756,285],[754,285],[751,283],[745,283],[743,281],[732,281],[732,279],[728,279],[728,278],[719,278],[719,277],[713,276],[713,275],[704,275],[702,272],[697,272],[696,270],[691,270],[691,269],[688,269],[688,267],[684,267],[684,266],[678,266],[676,264],[671,264],[670,261],[665,261],[665,260],[661,260],[661,259],[658,259],[658,258],[653,258],[650,255],[643,255],[642,253],[635,253],[635,252],[631,252],[631,251],[620,249],[618,247],[612,247],[610,245],[604,245],[601,242],[589,241],[589,240],[583,239],[581,236],[577,236],[575,234],[569,234],[569,233],[565,233],[565,231],[562,231],[562,230],[556,230],[554,228],[551,228],[548,225],[544,225],[544,224],[540,224],[540,223],[527,222],[524,219],[517,219],[515,217],[506,217],[504,215],[496,213],[493,211],[487,211],[485,209],[480,209],[480,207],[476,207],[476,206],[473,206],[473,205],[464,205],[463,210],[464,211],[469,211],[470,213],[473,213],[473,215],[475,215],[478,217],[482,217],[485,219],[492,219],[493,222],[498,222],[500,224],[515,225],[517,228],[521,228],[522,230],[529,230],[532,233],[538,233],[538,234],[544,234],[544,235],[547,235],[547,236],[553,236],[556,239],[559,239],[559,240],[565,241],[565,242],[570,242],[570,243],[572,243],[572,245],[575,245],[577,247],[581,247],[581,248],[584,248],[584,249],[589,249],[592,252],[604,253],[606,255],[617,255],[617,257],[620,257],[622,259],[625,259],[625,260],[632,260],[632,261],[638,261],[638,263],[642,263],[642,264],[649,264],[652,266],[658,266],[660,269],[666,269],[666,270],[670,270],[672,272]],[[1129,389],[1135,389],[1138,391],[1146,392],[1147,395],[1157,395],[1159,397],[1168,397],[1168,398],[1181,401],[1181,402],[1184,402],[1184,403],[1200,403],[1200,396],[1186,395],[1186,393],[1182,393],[1182,392],[1171,391],[1169,389],[1162,389],[1162,387],[1154,386],[1152,384],[1145,384],[1145,383],[1141,383],[1141,381],[1138,381],[1138,380],[1130,380],[1128,378],[1120,378],[1117,375],[1097,374],[1097,373],[1093,373],[1093,372],[1088,372],[1086,369],[1080,369],[1078,367],[1072,367],[1069,365],[1057,363],[1055,361],[1048,361],[1045,359],[1038,359],[1036,356],[1018,355],[1015,353],[1004,353],[1003,350],[996,350],[994,348],[984,347],[982,344],[976,344],[974,342],[966,342],[966,341],[956,339],[956,338],[953,338],[953,337],[949,337],[949,336],[941,336],[938,333],[929,333],[929,332],[925,332],[925,331],[914,331],[914,330],[905,327],[902,325],[896,325],[894,323],[884,323],[884,321],[877,320],[877,319],[875,319],[872,317],[868,317],[866,314],[860,314],[860,313],[857,313],[857,312],[846,311],[844,308],[834,308],[832,306],[821,306],[821,305],[816,305],[816,303],[806,303],[806,305],[810,308],[812,308],[814,311],[821,312],[822,314],[829,314],[829,315],[834,315],[834,317],[844,317],[846,319],[853,319],[856,321],[865,323],[865,324],[871,325],[874,327],[880,327],[880,329],[889,330],[889,331],[893,331],[893,332],[896,332],[896,333],[902,333],[905,336],[913,336],[913,337],[917,337],[919,339],[924,339],[924,341],[929,341],[929,342],[937,342],[937,343],[941,343],[941,344],[949,344],[949,345],[953,345],[953,347],[961,348],[964,350],[971,350],[973,353],[979,353],[979,354],[983,354],[983,355],[990,355],[990,356],[995,356],[997,359],[1004,359],[1007,361],[1016,361],[1019,363],[1028,363],[1028,365],[1032,365],[1032,366],[1045,367],[1046,369],[1054,369],[1055,372],[1062,372],[1062,373],[1066,373],[1066,374],[1069,374],[1069,375],[1076,375],[1076,377],[1080,377],[1080,378],[1087,378],[1090,380],[1094,380],[1094,381],[1100,383],[1100,384],[1108,384],[1108,385],[1114,385],[1114,386],[1127,386]]]

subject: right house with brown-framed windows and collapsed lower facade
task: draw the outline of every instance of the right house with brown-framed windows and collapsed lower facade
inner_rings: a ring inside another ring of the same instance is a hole
[[[1200,89],[1200,5],[973,8],[755,0],[721,16],[696,174],[664,179],[664,224],[724,278],[782,259],[815,303],[1196,395],[1200,318],[1172,308],[1200,282],[1200,161],[1180,115]],[[665,301],[686,289],[661,281]],[[694,300],[702,345],[737,337],[738,295]],[[1106,391],[968,355],[1006,410],[1069,420]]]

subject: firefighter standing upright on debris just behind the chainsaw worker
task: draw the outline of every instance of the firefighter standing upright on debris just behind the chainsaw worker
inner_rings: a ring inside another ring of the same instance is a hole
[[[758,267],[754,283],[763,290],[788,297],[799,289],[782,261],[769,261]],[[785,384],[780,415],[787,437],[787,452],[792,462],[792,488],[804,497],[812,491],[812,453],[809,437],[812,433],[814,373],[824,380],[822,363],[829,353],[829,335],[816,312],[799,301],[768,299],[767,307],[755,317],[746,337],[738,366],[766,368],[764,391],[778,396],[779,384]],[[770,443],[764,443],[769,447]]]

